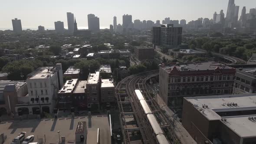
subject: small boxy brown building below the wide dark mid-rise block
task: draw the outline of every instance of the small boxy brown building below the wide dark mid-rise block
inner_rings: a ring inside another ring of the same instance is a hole
[[[137,46],[135,48],[136,59],[154,59],[154,48],[147,46]]]

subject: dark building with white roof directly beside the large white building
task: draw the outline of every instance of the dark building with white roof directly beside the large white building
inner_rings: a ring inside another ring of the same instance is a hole
[[[62,89],[58,92],[58,108],[59,109],[70,109],[73,107],[72,94],[78,83],[78,79],[67,80]]]

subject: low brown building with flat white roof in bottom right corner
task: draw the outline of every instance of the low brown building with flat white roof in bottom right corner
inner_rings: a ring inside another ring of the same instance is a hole
[[[256,95],[184,98],[182,125],[197,144],[255,144]]]

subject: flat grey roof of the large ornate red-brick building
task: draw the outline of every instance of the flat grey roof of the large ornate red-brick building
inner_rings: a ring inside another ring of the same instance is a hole
[[[233,69],[229,66],[218,62],[185,62],[185,63],[170,63],[162,64],[161,67],[167,72],[171,72],[172,69],[178,71],[197,71],[197,70],[215,70],[215,69]],[[174,68],[175,67],[175,68]]]

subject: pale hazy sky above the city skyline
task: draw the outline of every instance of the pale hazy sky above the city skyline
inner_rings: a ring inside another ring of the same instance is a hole
[[[256,0],[235,0],[246,12],[256,7]],[[11,20],[18,18],[22,27],[36,28],[39,25],[54,28],[55,21],[63,21],[67,27],[66,12],[75,15],[78,27],[87,27],[87,14],[99,17],[100,28],[109,28],[113,16],[122,24],[122,15],[131,14],[132,20],[195,20],[212,18],[213,13],[224,10],[228,0],[0,0],[0,29],[11,28]],[[240,17],[239,13],[239,17]]]

